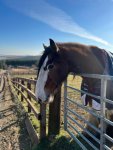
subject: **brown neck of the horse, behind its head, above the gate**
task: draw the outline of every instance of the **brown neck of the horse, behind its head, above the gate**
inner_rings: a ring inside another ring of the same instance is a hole
[[[92,49],[76,45],[74,48],[63,49],[65,59],[69,66],[69,72],[73,73],[89,73],[89,74],[103,74],[104,66],[101,55],[95,55]]]

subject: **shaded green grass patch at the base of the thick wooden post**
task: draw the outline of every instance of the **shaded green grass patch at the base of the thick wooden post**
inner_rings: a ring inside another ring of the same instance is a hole
[[[66,137],[66,132],[62,131],[56,137],[47,137],[35,147],[33,150],[81,150],[80,146]]]

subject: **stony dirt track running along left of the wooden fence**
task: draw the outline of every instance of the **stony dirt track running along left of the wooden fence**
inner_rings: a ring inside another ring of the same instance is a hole
[[[0,93],[0,150],[31,150],[25,114],[19,109],[6,81],[5,89]]]

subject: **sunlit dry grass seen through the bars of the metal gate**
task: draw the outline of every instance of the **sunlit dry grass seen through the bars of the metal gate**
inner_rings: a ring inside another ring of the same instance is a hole
[[[67,84],[71,87],[74,87],[76,89],[81,89],[81,82],[82,82],[82,78],[79,76],[73,77],[72,75],[68,76],[67,79]],[[77,102],[78,104],[82,104],[82,100],[81,100],[81,93],[71,90],[71,89],[67,89],[67,97],[70,98],[71,100],[73,100],[74,102]],[[76,112],[77,114],[79,114],[79,116],[82,116],[83,118],[85,118],[85,120],[88,120],[88,113],[80,108],[79,106],[77,106],[74,103],[71,103],[68,101],[67,106],[70,110]],[[63,94],[63,88],[62,88],[62,107],[61,107],[61,116],[62,116],[62,122],[64,119],[64,94]],[[83,127],[85,127],[85,122],[82,119],[79,119],[77,116],[73,115],[72,113],[70,113],[68,111],[68,114],[74,118],[80,125],[82,125]],[[72,122],[70,119],[68,119],[68,121],[77,128],[78,131],[82,132],[82,129],[75,124],[74,122]],[[72,130],[72,129],[71,129]],[[75,134],[77,135],[77,133],[75,132]]]

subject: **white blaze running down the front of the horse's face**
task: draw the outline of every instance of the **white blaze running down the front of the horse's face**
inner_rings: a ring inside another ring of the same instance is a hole
[[[48,61],[48,57],[46,57],[43,65],[40,69],[38,80],[37,80],[37,83],[36,83],[36,91],[35,91],[37,100],[39,98],[39,99],[42,100],[42,102],[47,100],[47,95],[44,91],[44,87],[45,87],[47,77],[48,77],[48,72],[49,72],[48,69],[44,70],[44,67],[46,66],[47,61]]]

